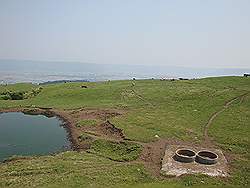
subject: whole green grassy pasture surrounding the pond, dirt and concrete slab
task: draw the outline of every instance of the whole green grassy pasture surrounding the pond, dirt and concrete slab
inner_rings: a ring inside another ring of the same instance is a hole
[[[134,83],[134,84],[132,84]],[[208,134],[226,154],[230,177],[188,175],[155,177],[138,155],[124,152],[128,146],[94,142],[89,152],[66,152],[55,156],[26,157],[0,164],[0,187],[248,187],[250,186],[250,79],[218,77],[183,81],[136,80],[43,85],[41,92],[24,100],[0,100],[0,109],[46,107],[53,109],[118,109],[110,119],[135,142],[160,138],[202,143],[206,123],[226,102],[235,100],[215,118]],[[0,86],[6,91],[29,92],[39,86]],[[1,97],[0,97],[1,98]],[[79,122],[95,124],[95,120]],[[114,149],[115,148],[115,149]],[[138,146],[138,148],[140,148]],[[123,158],[125,156],[125,158]],[[112,160],[114,159],[114,160]],[[119,159],[123,159],[118,162]]]

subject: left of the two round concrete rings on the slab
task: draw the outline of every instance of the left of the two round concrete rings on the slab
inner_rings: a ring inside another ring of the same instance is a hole
[[[178,149],[174,158],[179,162],[191,163],[195,160],[195,152],[190,149]]]

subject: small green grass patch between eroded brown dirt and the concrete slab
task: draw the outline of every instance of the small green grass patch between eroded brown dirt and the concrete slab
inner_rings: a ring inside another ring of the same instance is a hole
[[[114,161],[132,161],[138,158],[141,150],[142,147],[138,144],[96,140],[88,152]]]

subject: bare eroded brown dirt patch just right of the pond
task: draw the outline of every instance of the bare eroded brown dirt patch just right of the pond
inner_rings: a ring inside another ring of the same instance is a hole
[[[122,141],[124,139],[124,135],[121,129],[116,128],[112,125],[108,119],[122,115],[124,111],[117,109],[88,109],[88,108],[80,108],[80,109],[72,109],[72,110],[51,110],[55,112],[58,116],[63,118],[67,122],[67,127],[70,129],[72,142],[74,143],[74,148],[78,149],[88,149],[89,143],[85,143],[85,141],[79,141],[78,137],[81,136],[82,133],[86,133],[91,135],[92,137],[104,138],[108,140],[116,140]],[[97,122],[101,122],[96,125],[84,125],[77,126],[80,121],[83,120],[97,120]]]

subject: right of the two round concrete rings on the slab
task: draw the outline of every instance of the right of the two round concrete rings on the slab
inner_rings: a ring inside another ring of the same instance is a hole
[[[199,151],[196,155],[195,161],[201,164],[215,164],[218,161],[218,155],[211,151]]]

